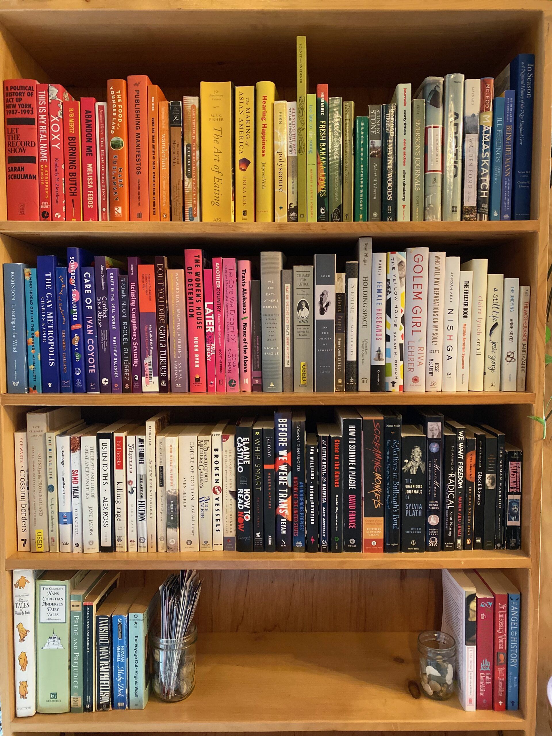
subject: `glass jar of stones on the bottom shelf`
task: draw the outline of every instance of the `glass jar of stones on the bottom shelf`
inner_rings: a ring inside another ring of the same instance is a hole
[[[454,692],[456,642],[445,631],[422,631],[418,637],[420,684],[428,698],[446,700]]]

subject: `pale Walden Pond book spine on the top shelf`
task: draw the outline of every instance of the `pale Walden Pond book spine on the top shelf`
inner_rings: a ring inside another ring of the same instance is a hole
[[[477,219],[477,174],[481,79],[464,82],[464,199],[462,219]]]

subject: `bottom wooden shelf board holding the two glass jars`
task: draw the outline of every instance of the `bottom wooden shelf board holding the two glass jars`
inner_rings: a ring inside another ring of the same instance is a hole
[[[417,634],[199,634],[190,698],[145,710],[15,718],[13,732],[523,729],[520,712],[412,698]]]

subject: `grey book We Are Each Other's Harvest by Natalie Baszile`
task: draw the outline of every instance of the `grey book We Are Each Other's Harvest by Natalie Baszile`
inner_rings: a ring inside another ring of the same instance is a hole
[[[283,391],[282,367],[282,268],[283,254],[261,252],[261,344],[263,391]]]

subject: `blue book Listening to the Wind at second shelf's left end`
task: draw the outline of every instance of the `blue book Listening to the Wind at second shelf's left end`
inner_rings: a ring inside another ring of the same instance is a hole
[[[4,263],[6,381],[9,394],[29,393],[25,319],[25,263]]]

